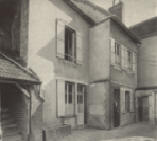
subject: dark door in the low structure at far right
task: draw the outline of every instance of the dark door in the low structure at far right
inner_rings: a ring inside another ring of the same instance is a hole
[[[139,121],[149,121],[149,97],[138,98]]]

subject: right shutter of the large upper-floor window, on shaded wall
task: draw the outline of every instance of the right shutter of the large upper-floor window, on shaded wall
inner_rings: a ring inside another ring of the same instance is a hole
[[[82,50],[82,35],[77,32],[76,33],[76,61],[78,64],[82,64],[83,62],[83,50]]]

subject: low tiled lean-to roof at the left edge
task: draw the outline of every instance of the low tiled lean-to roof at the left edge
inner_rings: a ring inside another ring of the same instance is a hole
[[[0,79],[20,80],[40,83],[39,79],[28,69],[0,53]]]

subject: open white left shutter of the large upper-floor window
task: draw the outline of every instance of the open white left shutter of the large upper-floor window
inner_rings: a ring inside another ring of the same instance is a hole
[[[65,24],[66,22],[61,19],[57,19],[57,57],[64,59],[64,53],[65,53]]]

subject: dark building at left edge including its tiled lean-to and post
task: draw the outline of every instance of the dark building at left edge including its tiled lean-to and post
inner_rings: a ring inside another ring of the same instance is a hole
[[[41,82],[27,68],[28,1],[0,1],[0,18],[0,137],[40,141]]]

